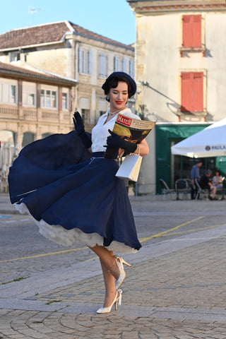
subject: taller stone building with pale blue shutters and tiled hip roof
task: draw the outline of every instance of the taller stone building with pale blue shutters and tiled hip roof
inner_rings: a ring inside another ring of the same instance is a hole
[[[88,131],[108,107],[101,85],[109,73],[125,71],[134,77],[134,47],[69,21],[0,35],[0,61],[18,60],[78,82],[72,108],[81,112]]]

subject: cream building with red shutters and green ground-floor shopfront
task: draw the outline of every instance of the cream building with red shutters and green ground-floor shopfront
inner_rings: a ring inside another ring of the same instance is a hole
[[[174,186],[179,177],[190,177],[194,164],[172,155],[170,146],[225,117],[226,5],[222,0],[127,1],[136,16],[136,109],[157,121],[139,189],[156,193],[160,178]],[[225,157],[203,162],[226,174]]]

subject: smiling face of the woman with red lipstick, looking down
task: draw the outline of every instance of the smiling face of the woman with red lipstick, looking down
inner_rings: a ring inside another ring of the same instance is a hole
[[[126,107],[128,101],[128,85],[119,81],[116,88],[111,88],[108,93],[111,112],[119,111]]]

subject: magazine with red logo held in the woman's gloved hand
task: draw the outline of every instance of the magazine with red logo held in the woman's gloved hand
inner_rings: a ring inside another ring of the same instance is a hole
[[[155,121],[145,121],[140,119],[133,119],[118,113],[117,119],[114,123],[113,132],[131,143],[141,143],[141,141],[148,136],[148,133],[155,126]],[[107,148],[105,151],[105,159],[115,159],[115,154],[118,149]]]

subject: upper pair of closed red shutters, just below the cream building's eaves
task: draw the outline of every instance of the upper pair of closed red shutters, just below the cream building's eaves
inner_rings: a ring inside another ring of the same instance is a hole
[[[183,47],[201,47],[201,14],[182,17]]]

